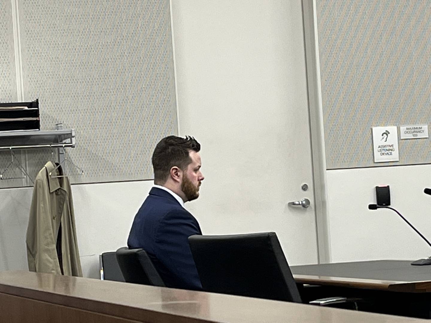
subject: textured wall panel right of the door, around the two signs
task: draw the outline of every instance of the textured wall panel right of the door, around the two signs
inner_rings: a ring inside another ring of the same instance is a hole
[[[429,139],[374,163],[373,126],[431,127],[431,1],[318,0],[327,167],[431,163]],[[430,128],[431,130],[431,128]]]

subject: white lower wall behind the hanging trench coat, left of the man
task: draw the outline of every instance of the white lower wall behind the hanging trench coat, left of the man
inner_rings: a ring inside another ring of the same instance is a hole
[[[81,265],[99,278],[99,256],[127,245],[152,181],[72,185]],[[0,189],[0,270],[28,270],[25,234],[32,188]]]

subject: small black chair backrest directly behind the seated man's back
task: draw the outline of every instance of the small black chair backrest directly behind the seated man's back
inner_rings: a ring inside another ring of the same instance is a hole
[[[117,261],[127,283],[165,286],[144,249],[119,248]]]

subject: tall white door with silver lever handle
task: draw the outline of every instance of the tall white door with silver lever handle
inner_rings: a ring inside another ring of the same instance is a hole
[[[289,264],[317,263],[301,1],[171,4],[180,134],[206,177],[186,207],[203,234],[275,231]]]

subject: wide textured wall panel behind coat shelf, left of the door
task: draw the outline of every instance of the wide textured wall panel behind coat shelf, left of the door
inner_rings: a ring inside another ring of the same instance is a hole
[[[152,178],[154,146],[178,132],[169,1],[20,0],[19,15],[24,98],[43,130],[76,129],[72,183]],[[28,159],[36,174],[50,152]]]

